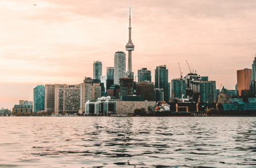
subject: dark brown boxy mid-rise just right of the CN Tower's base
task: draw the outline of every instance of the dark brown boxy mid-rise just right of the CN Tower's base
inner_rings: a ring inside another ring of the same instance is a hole
[[[154,82],[136,82],[136,95],[144,96],[147,101],[154,101]]]

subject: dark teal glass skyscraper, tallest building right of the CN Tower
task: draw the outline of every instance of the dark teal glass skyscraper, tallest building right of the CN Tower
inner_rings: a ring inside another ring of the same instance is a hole
[[[158,66],[155,69],[155,88],[164,90],[164,101],[169,101],[168,69],[166,66]]]

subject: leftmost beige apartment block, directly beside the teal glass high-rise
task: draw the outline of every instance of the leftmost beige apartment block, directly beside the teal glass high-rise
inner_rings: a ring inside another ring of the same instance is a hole
[[[55,86],[45,86],[45,111],[54,112],[55,108]]]

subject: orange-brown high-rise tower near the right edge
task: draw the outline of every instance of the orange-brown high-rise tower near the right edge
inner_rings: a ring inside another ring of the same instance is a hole
[[[237,71],[238,96],[250,94],[251,69],[245,68]]]

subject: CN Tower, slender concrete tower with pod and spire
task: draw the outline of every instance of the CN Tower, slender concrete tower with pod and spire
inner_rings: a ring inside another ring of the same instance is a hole
[[[128,69],[127,77],[134,78],[133,67],[132,67],[132,51],[134,50],[134,45],[132,43],[132,27],[131,27],[131,8],[130,8],[130,19],[129,19],[129,41],[125,45],[126,50],[128,51]]]

